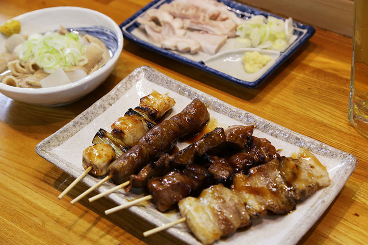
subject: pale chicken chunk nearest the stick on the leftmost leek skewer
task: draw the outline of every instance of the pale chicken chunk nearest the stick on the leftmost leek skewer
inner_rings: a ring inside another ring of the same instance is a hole
[[[92,166],[90,172],[93,175],[104,175],[107,173],[108,165],[114,158],[115,150],[105,143],[99,143],[83,150],[83,168],[87,169]]]

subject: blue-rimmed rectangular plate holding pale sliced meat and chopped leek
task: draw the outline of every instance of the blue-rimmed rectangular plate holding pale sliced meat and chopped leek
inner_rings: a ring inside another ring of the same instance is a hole
[[[146,32],[143,30],[143,28],[141,28],[136,19],[138,17],[142,17],[149,9],[158,8],[162,4],[170,3],[172,1],[173,0],[153,0],[142,9],[138,10],[129,19],[119,25],[122,29],[124,38],[146,49],[153,50],[161,55],[178,60],[180,62],[183,62],[184,64],[196,67],[202,71],[211,73],[247,88],[257,88],[261,83],[263,83],[263,81],[267,79],[267,77],[274,73],[278,67],[280,67],[287,59],[289,59],[289,57],[296,50],[300,49],[302,45],[306,43],[315,33],[315,28],[313,26],[293,22],[293,41],[290,42],[289,47],[281,53],[273,50],[274,52],[278,52],[277,54],[272,54],[272,51],[267,49],[252,49],[259,50],[261,53],[263,52],[264,54],[270,55],[271,61],[268,62],[267,65],[265,65],[260,71],[256,73],[245,73],[240,58],[242,55],[235,55],[231,53],[231,50],[235,49],[235,38],[228,38],[226,44],[221,47],[217,54],[212,56],[201,51],[196,54],[190,54],[162,49],[159,44],[155,44],[148,40]],[[223,2],[228,7],[229,11],[236,13],[237,16],[242,19],[249,19],[254,15],[263,15],[265,17],[273,16],[285,20],[280,16],[270,14],[268,12],[256,9],[251,6],[247,6],[245,4],[241,4],[233,0],[218,1]],[[242,51],[245,52],[252,50],[248,48]],[[227,62],[223,62],[225,60]]]

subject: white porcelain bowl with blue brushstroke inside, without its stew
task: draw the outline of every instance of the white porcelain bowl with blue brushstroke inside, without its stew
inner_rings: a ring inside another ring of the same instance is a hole
[[[52,88],[19,88],[0,83],[0,92],[17,101],[37,105],[60,105],[82,98],[111,73],[123,48],[123,35],[119,26],[108,16],[86,8],[54,7],[45,8],[13,18],[21,22],[21,34],[44,33],[57,30],[60,25],[85,31],[102,39],[112,51],[107,63],[90,75],[62,86]],[[0,35],[0,52],[5,52],[4,35]]]

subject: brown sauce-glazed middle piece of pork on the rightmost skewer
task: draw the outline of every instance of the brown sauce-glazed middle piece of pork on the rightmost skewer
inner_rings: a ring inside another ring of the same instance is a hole
[[[294,192],[285,182],[279,165],[280,161],[274,159],[251,168],[248,175],[235,174],[231,188],[240,196],[252,217],[261,217],[267,210],[287,214],[295,209]]]

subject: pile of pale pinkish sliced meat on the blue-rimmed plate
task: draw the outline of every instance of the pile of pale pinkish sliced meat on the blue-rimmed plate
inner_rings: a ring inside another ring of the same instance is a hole
[[[243,22],[216,0],[175,0],[137,18],[149,40],[164,49],[215,54]]]

